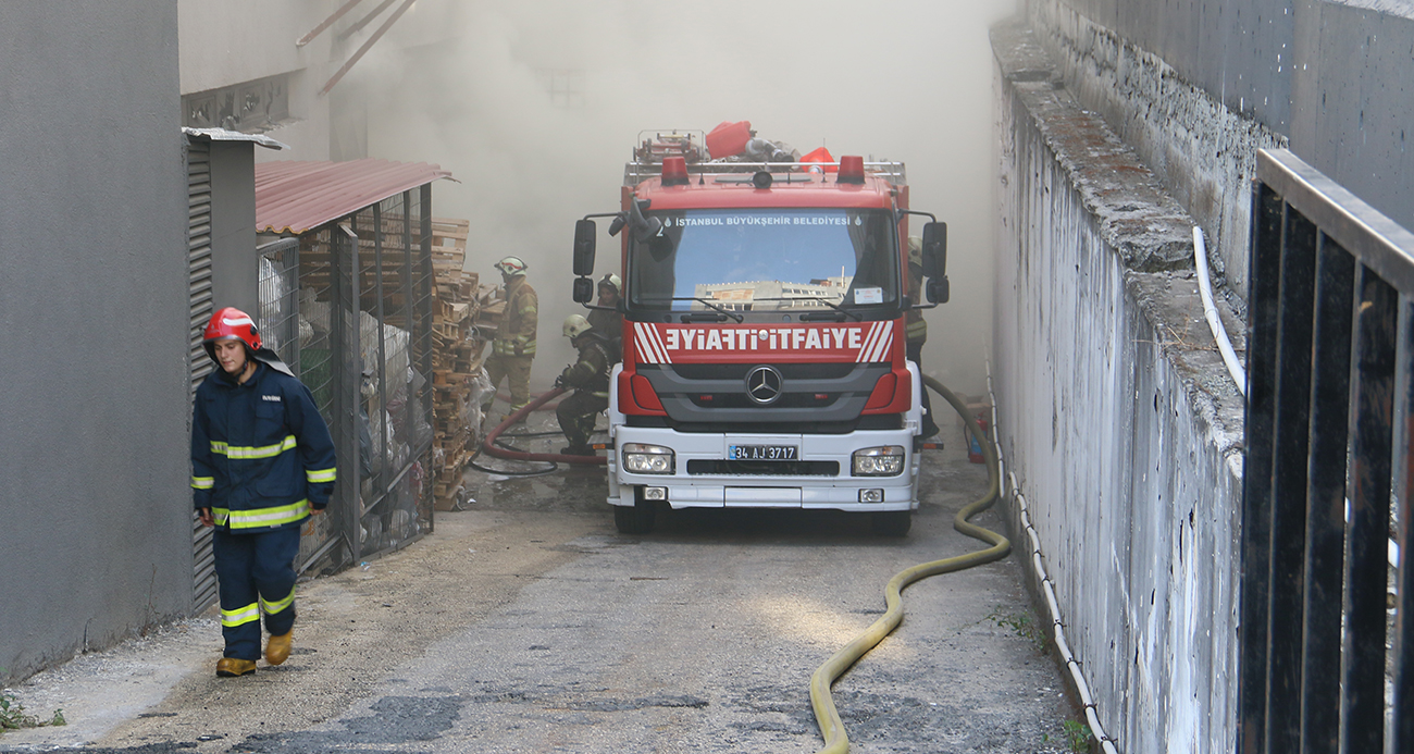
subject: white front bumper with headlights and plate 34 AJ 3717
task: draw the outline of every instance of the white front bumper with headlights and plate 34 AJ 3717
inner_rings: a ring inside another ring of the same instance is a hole
[[[631,474],[622,468],[621,450],[626,443],[646,443],[673,448],[672,474]],[[732,444],[797,446],[802,461],[834,461],[833,475],[776,474],[689,474],[689,463],[727,458]],[[874,446],[904,447],[904,472],[895,477],[851,477],[855,450]],[[633,505],[636,491],[663,487],[673,508],[800,508],[833,511],[912,511],[918,508],[918,464],[913,433],[901,430],[860,430],[848,434],[748,434],[682,433],[660,427],[614,427],[609,456],[611,505]],[[881,489],[882,502],[860,502],[861,489]]]

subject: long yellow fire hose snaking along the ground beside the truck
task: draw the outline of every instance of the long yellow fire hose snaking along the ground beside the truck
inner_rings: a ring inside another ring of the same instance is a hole
[[[967,521],[991,508],[991,504],[997,501],[1000,491],[997,451],[983,436],[977,420],[967,416],[967,406],[952,390],[930,376],[923,378],[923,385],[932,388],[935,393],[946,398],[953,405],[953,409],[963,417],[963,423],[967,424],[971,436],[977,439],[977,444],[981,446],[983,454],[987,458],[987,494],[962,511],[957,511],[957,515],[953,518],[953,529],[973,539],[990,542],[991,546],[986,550],[959,555],[956,557],[919,563],[898,572],[889,579],[888,586],[884,587],[884,601],[888,605],[884,615],[865,628],[863,634],[854,637],[850,644],[846,644],[843,649],[827,659],[824,665],[820,665],[814,671],[814,675],[810,676],[810,706],[814,707],[814,720],[820,726],[820,734],[824,736],[824,748],[819,754],[846,754],[850,750],[850,737],[844,733],[844,723],[840,720],[840,713],[834,709],[834,697],[830,696],[830,686],[837,678],[844,675],[844,671],[848,671],[861,656],[884,641],[884,637],[898,628],[899,621],[904,620],[902,597],[899,596],[904,587],[919,579],[937,576],[939,573],[952,573],[991,563],[993,560],[1001,560],[1011,552],[1011,542],[1007,538]]]

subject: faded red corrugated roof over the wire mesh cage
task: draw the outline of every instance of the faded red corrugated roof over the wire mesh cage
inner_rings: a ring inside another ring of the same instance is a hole
[[[256,232],[303,233],[451,171],[431,163],[349,160],[256,164]]]

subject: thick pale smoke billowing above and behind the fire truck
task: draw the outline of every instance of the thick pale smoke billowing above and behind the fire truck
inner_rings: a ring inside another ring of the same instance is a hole
[[[925,369],[983,392],[995,164],[987,27],[1010,1],[452,6],[437,18],[447,41],[396,64],[370,57],[369,89],[393,96],[370,106],[368,151],[452,171],[461,182],[434,187],[436,214],[471,221],[467,267],[484,283],[499,280],[501,256],[530,263],[537,389],[573,356],[560,321],[583,311],[570,300],[574,221],[618,209],[639,132],[751,120],[802,153],[824,144],[908,164],[912,208],[949,225],[953,297],[928,314]],[[574,72],[567,96],[551,95],[550,71]],[[600,274],[619,266],[605,226]]]

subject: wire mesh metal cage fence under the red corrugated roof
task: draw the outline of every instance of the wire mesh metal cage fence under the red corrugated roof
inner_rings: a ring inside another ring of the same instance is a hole
[[[298,570],[337,570],[433,528],[431,190],[260,248],[260,330],[334,433],[328,515]]]

